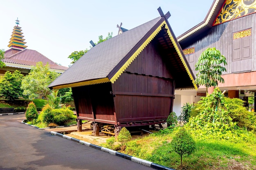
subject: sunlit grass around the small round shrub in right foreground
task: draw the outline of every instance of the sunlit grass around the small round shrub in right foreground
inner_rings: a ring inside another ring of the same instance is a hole
[[[180,155],[171,148],[171,134],[152,134],[128,142],[124,153],[180,169]],[[256,145],[246,142],[207,139],[195,140],[196,150],[183,157],[185,170],[256,170]]]

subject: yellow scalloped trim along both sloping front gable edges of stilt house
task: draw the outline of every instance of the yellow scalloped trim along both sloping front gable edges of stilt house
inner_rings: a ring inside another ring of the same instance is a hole
[[[175,40],[173,38],[173,36],[171,35],[170,30],[168,29],[168,26],[166,24],[165,21],[162,22],[162,24],[160,24],[157,29],[147,38],[147,40],[135,51],[135,53],[132,54],[132,56],[125,62],[125,64],[117,71],[117,73],[115,73],[115,75],[110,79],[111,83],[114,83],[119,76],[126,70],[126,68],[128,68],[128,66],[135,60],[135,58],[139,55],[139,53],[141,53],[141,51],[153,40],[153,38],[157,35],[157,33],[159,33],[159,31],[161,31],[162,26],[165,25],[165,29],[167,29],[167,33],[171,39],[171,41],[173,42],[173,45],[175,46],[175,49],[178,53],[178,55],[180,56],[180,59],[182,60],[182,64],[184,65],[184,67],[186,68],[187,73],[189,74],[190,79],[193,82],[193,85],[195,87],[195,89],[198,89],[198,87],[194,84],[194,79],[193,76],[191,75],[188,66],[186,65],[186,62],[184,60],[184,58],[182,57],[182,54],[180,53],[180,50],[177,46],[177,44],[175,43]]]

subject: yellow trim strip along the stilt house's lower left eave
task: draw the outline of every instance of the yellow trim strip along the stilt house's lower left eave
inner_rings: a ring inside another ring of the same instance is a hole
[[[102,78],[102,79],[94,79],[86,82],[78,82],[78,83],[72,83],[72,84],[64,84],[60,86],[54,86],[53,89],[59,89],[59,88],[67,88],[67,87],[78,87],[78,86],[87,86],[92,84],[100,84],[100,83],[107,83],[110,82],[108,78]]]

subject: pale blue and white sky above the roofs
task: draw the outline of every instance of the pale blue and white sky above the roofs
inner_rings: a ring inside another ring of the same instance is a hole
[[[117,35],[117,24],[132,29],[157,18],[158,7],[176,36],[202,22],[213,0],[0,0],[0,49],[7,46],[15,20],[25,36],[28,49],[36,50],[63,66],[74,51],[89,49],[108,33]]]

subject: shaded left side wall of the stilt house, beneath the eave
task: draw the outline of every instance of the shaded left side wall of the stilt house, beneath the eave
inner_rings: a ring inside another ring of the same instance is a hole
[[[111,83],[94,84],[72,88],[74,102],[79,117],[105,121],[115,121],[114,100]],[[94,115],[92,114],[94,113]]]

